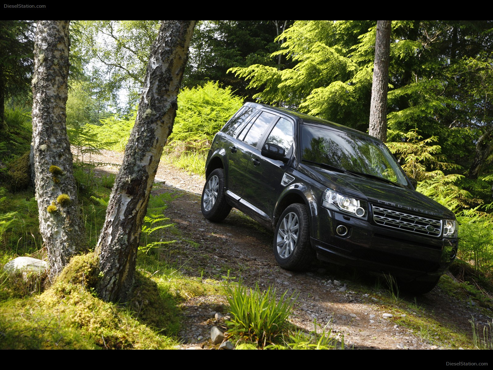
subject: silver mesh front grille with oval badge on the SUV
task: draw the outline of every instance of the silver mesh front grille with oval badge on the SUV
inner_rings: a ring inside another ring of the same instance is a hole
[[[442,233],[442,222],[440,220],[410,215],[388,208],[377,207],[375,205],[373,205],[372,208],[373,221],[379,225],[416,232],[423,235],[440,236]]]

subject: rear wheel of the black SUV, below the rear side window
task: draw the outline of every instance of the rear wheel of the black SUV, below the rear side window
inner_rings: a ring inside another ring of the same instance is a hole
[[[210,221],[224,220],[231,211],[231,206],[224,194],[224,170],[216,168],[207,178],[200,200],[202,214]]]

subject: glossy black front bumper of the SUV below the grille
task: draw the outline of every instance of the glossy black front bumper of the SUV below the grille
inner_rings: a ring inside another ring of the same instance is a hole
[[[343,225],[347,233],[338,235]],[[437,238],[379,226],[320,207],[312,218],[311,242],[319,259],[404,279],[438,277],[454,261],[458,238]]]

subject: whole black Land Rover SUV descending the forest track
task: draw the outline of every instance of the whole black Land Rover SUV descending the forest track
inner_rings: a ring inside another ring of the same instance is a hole
[[[274,229],[288,270],[316,255],[422,294],[457,254],[454,214],[414,189],[384,143],[337,123],[246,103],[216,134],[206,178],[204,217],[235,207]]]

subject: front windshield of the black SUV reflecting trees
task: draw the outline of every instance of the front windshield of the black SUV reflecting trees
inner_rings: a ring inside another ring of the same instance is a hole
[[[383,143],[320,126],[301,127],[302,160],[408,185],[400,166]]]

